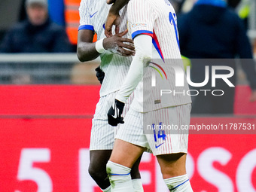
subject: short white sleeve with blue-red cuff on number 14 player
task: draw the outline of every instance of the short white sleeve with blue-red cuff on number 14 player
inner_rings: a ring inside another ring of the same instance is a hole
[[[147,0],[133,0],[128,4],[128,25],[132,38],[144,34],[153,36],[154,10]]]

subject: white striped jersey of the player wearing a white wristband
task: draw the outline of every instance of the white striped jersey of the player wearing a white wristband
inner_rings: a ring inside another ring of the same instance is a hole
[[[107,5],[105,0],[81,0],[79,8],[80,26],[78,30],[89,29],[96,32],[98,40],[105,38],[105,22],[110,7],[111,5]],[[120,17],[123,18],[120,23],[120,32],[123,32],[127,29],[126,6],[120,10]],[[128,38],[128,35],[123,37]],[[108,50],[105,50],[100,57],[100,68],[105,72],[105,78],[100,89],[100,96],[105,96],[120,90],[120,86],[126,78],[133,58],[131,56],[120,56]]]

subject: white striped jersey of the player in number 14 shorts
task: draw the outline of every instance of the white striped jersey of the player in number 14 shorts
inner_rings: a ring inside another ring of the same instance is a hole
[[[142,34],[152,37],[152,62],[154,62],[150,64],[151,67],[147,67],[143,84],[141,81],[136,88],[131,107],[136,111],[145,112],[190,103],[179,50],[176,14],[172,5],[168,0],[130,0],[127,15],[128,29],[132,38]],[[156,72],[158,76],[154,89],[151,87],[152,72]],[[160,75],[163,79],[159,78]],[[177,78],[181,82],[178,82]],[[177,86],[181,83],[183,86]],[[161,90],[166,90],[162,96]]]

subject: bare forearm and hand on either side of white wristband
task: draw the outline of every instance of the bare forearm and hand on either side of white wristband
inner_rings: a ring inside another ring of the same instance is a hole
[[[133,40],[130,38],[123,38],[128,30],[120,32],[110,38],[104,38],[102,41],[102,47],[105,50],[109,50],[112,53],[120,54],[121,56],[131,56],[135,53],[135,47],[133,46]],[[93,43],[94,32],[91,30],[79,30],[78,31],[78,59],[81,62],[90,61],[96,59],[100,53],[96,50],[96,43]]]

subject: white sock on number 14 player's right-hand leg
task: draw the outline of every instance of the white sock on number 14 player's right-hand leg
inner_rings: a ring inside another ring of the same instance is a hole
[[[163,181],[171,192],[193,192],[187,174],[173,178],[166,178]]]

